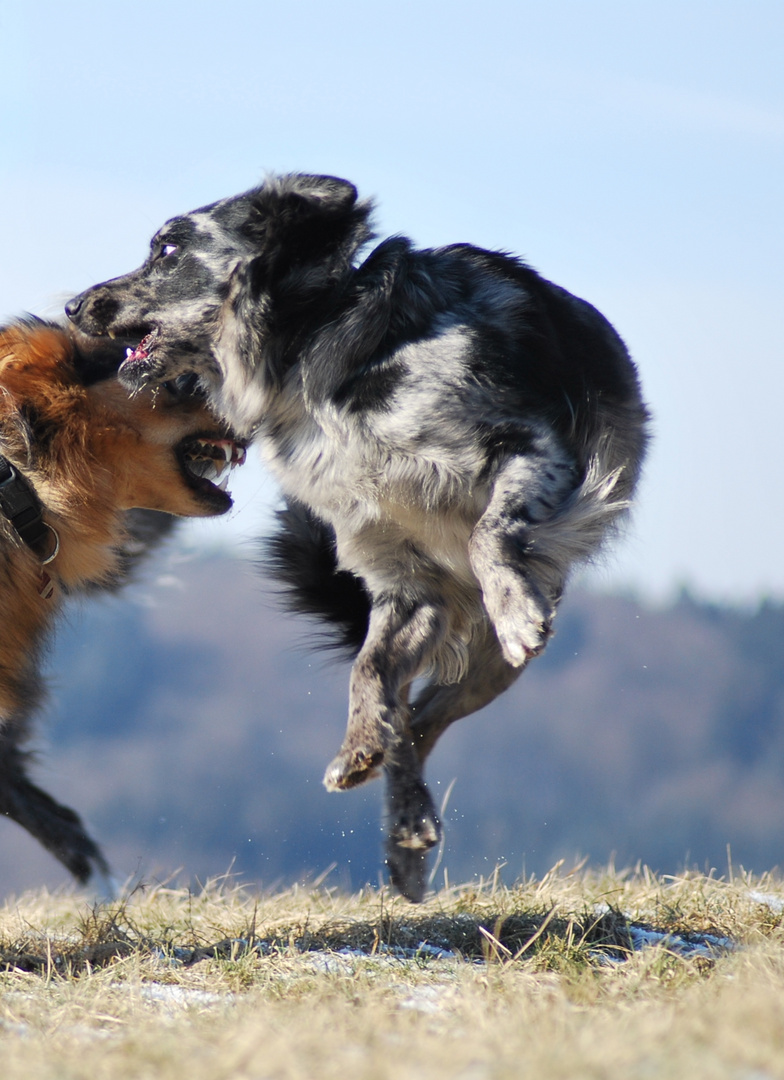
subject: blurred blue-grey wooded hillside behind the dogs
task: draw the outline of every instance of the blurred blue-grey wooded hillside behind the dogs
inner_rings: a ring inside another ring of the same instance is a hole
[[[165,566],[164,566],[165,564]],[[163,567],[163,569],[162,569]],[[62,629],[37,777],[90,822],[119,876],[376,882],[380,784],[321,784],[348,667],[228,555],[159,561]],[[784,606],[575,592],[546,652],[428,768],[451,781],[442,867],[513,880],[558,858],[663,873],[784,862]],[[442,878],[440,872],[440,880]],[[67,880],[0,821],[0,892]]]

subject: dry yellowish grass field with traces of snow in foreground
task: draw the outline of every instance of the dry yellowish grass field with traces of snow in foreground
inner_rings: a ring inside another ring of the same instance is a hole
[[[772,876],[28,893],[0,961],[3,1080],[784,1078]]]

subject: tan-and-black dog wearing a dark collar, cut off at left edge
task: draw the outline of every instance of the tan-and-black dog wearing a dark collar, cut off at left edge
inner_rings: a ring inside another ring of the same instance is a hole
[[[149,531],[132,508],[225,513],[245,457],[180,386],[130,397],[118,349],[36,320],[0,329],[0,813],[80,881],[106,862],[77,814],[30,782],[24,750],[60,600],[122,580]]]

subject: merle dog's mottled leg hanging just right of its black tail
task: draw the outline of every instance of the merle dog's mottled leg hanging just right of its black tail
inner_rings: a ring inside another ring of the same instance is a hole
[[[428,665],[445,626],[437,603],[374,600],[367,637],[351,670],[346,738],[324,774],[329,791],[364,783],[386,760],[404,771],[416,760],[405,689]]]

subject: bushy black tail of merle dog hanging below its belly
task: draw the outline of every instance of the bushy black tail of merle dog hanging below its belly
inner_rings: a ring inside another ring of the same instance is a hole
[[[370,597],[362,581],[339,570],[335,534],[307,507],[289,500],[262,541],[263,569],[289,611],[325,624],[326,644],[355,656],[367,636]]]

